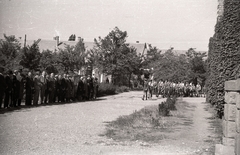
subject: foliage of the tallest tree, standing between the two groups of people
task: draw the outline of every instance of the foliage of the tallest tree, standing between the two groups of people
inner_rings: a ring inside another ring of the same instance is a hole
[[[130,76],[140,65],[136,49],[129,47],[126,38],[127,32],[115,27],[106,37],[94,39],[96,65],[103,73],[111,75],[115,84],[117,78],[124,73]]]

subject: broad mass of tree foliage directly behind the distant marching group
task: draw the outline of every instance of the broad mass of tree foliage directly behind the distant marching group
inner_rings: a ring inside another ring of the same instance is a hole
[[[144,66],[154,68],[153,73],[156,80],[203,85],[206,79],[204,57],[206,57],[206,53],[196,52],[192,48],[180,55],[175,54],[173,48],[168,49],[165,53],[161,53],[156,48],[150,48]]]

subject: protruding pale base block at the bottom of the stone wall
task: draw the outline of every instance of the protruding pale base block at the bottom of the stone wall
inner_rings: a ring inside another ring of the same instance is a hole
[[[233,146],[215,145],[215,155],[235,155]]]

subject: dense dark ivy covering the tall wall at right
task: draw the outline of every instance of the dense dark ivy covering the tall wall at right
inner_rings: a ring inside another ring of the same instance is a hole
[[[222,18],[209,41],[207,102],[223,116],[224,82],[240,75],[240,1],[225,0]]]

